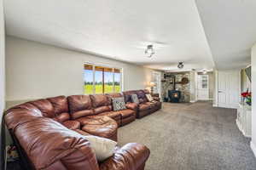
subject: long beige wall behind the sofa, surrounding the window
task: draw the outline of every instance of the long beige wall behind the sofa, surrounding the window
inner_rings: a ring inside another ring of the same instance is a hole
[[[113,49],[114,50],[114,49]],[[16,37],[6,38],[7,100],[83,94],[85,62],[123,68],[123,89],[146,88],[152,70]]]

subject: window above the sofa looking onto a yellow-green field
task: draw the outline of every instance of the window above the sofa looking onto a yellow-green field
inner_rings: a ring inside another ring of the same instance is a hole
[[[84,94],[121,91],[121,70],[99,65],[84,65]]]

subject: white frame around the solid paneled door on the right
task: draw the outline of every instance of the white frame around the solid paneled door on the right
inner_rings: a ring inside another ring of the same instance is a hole
[[[241,102],[241,71],[240,70],[222,70],[222,71],[236,71],[237,72],[237,76],[238,76],[238,92],[237,92],[237,97],[238,97],[238,104],[237,105],[230,105],[230,108],[233,109],[238,109],[239,107],[239,103]],[[219,107],[218,105],[218,74],[219,71],[214,71],[215,73],[215,95],[213,96],[213,107]]]

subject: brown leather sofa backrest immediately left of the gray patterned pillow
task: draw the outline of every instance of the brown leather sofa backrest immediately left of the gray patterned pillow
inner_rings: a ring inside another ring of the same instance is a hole
[[[112,111],[111,98],[105,94],[90,95],[95,114]]]

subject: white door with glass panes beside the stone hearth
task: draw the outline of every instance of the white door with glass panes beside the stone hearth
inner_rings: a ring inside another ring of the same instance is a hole
[[[209,99],[209,77],[208,75],[197,75],[197,99]]]

